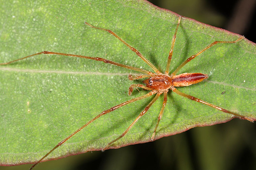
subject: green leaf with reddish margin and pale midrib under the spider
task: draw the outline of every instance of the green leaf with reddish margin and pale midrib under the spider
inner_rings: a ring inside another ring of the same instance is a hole
[[[5,1],[2,8],[0,63],[47,50],[102,57],[153,71],[114,36],[89,27],[86,21],[114,31],[163,72],[178,21],[177,14],[145,1]],[[210,43],[239,37],[183,17],[170,72]],[[255,53],[255,44],[247,39],[218,44],[179,72],[205,73],[208,80],[178,90],[255,119]],[[131,83],[142,83],[127,78],[137,72],[65,56],[35,56],[1,66],[0,72],[1,165],[35,162],[103,110],[148,93],[141,90],[127,95]],[[100,117],[45,160],[101,150],[122,134],[152,99]],[[150,141],[162,102],[163,96],[111,148]],[[156,139],[232,118],[169,92]]]

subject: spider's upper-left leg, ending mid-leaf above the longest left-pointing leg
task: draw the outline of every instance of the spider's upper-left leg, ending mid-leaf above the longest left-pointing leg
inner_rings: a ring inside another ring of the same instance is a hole
[[[128,43],[126,43],[122,38],[120,38],[118,35],[116,35],[113,31],[93,26],[93,25],[89,24],[88,22],[85,22],[85,23],[87,25],[91,26],[92,28],[103,30],[103,31],[106,31],[106,32],[112,34],[117,39],[119,39],[122,43],[124,43],[127,47],[129,47],[133,52],[135,52],[137,54],[137,56],[139,56],[143,61],[145,61],[157,74],[160,73],[160,71],[147,58],[145,58],[138,50],[136,50],[135,48],[130,46]]]

